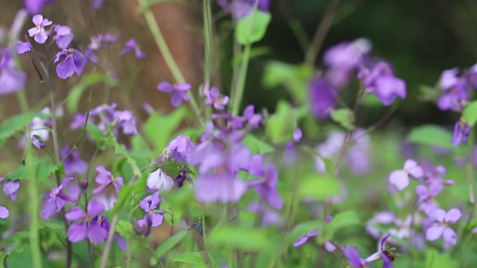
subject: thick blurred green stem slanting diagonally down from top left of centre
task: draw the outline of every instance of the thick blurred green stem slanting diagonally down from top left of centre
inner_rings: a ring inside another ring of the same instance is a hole
[[[137,1],[139,3],[139,6],[145,6],[147,4],[147,0]],[[176,81],[176,83],[184,83],[185,77],[183,76],[181,69],[179,69],[179,65],[177,65],[176,61],[174,60],[174,57],[172,56],[171,51],[169,50],[169,47],[165,42],[164,36],[162,36],[162,32],[159,29],[158,22],[156,22],[156,17],[154,17],[154,14],[149,8],[144,11],[144,18],[146,19],[149,31],[151,31],[151,33],[153,34],[154,41],[156,41],[156,45],[158,45],[162,57],[164,57],[167,67],[169,68],[169,70],[171,70],[174,80]],[[190,90],[188,91],[188,95],[190,97],[190,107],[197,116],[197,118],[200,120],[200,110],[195,100],[195,97]]]

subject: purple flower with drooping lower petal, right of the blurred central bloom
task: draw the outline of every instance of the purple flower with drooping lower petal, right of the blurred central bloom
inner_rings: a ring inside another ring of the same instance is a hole
[[[278,182],[278,172],[274,164],[264,166],[262,164],[262,156],[254,155],[250,159],[250,168],[248,170],[250,175],[260,177],[257,180],[249,182],[250,187],[255,187],[257,192],[262,198],[264,198],[269,205],[277,210],[281,210],[283,207],[283,200],[278,195],[276,189]]]

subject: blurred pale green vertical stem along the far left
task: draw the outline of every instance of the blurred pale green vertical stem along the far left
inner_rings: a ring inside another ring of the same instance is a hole
[[[27,113],[29,108],[27,95],[25,94],[24,90],[21,90],[19,93],[17,93],[17,100],[20,105],[20,109],[22,109],[22,113]],[[30,135],[28,127],[25,127],[25,133],[27,137]],[[42,268],[40,239],[38,235],[38,214],[40,211],[40,203],[38,202],[38,187],[35,180],[36,174],[34,167],[31,165],[33,151],[31,150],[31,143],[28,140],[25,142],[25,157],[25,165],[27,166],[27,172],[30,178],[27,188],[29,199],[32,201],[29,205],[31,265],[33,265],[33,268]]]

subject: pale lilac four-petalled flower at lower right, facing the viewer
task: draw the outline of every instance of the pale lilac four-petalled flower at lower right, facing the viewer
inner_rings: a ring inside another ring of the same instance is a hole
[[[442,236],[446,243],[455,245],[457,242],[457,234],[448,225],[457,223],[461,215],[460,210],[457,210],[456,208],[450,209],[448,212],[441,209],[436,210],[434,212],[434,220],[437,221],[437,223],[434,223],[430,228],[427,228],[425,231],[425,239],[436,241]]]

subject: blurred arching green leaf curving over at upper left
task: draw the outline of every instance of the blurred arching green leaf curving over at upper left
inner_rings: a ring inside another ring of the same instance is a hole
[[[75,86],[73,86],[73,88],[70,90],[68,100],[66,101],[66,108],[68,111],[70,113],[76,113],[78,110],[79,100],[81,100],[84,90],[88,88],[88,86],[93,86],[93,84],[100,82],[105,83],[107,86],[116,86],[116,84],[118,84],[118,81],[108,74],[100,72],[86,74],[82,77],[81,81],[75,84]]]

